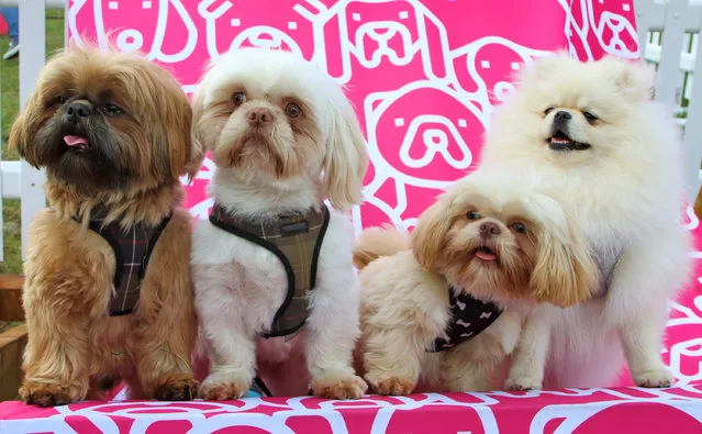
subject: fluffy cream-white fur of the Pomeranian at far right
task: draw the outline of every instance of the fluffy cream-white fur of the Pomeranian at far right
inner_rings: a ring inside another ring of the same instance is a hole
[[[668,302],[689,276],[690,240],[680,218],[679,132],[670,111],[651,102],[651,78],[643,66],[614,57],[539,59],[493,120],[481,168],[511,173],[515,182],[541,178],[539,188],[576,219],[595,255],[612,259],[623,249],[605,297],[535,311],[514,355],[510,389],[612,386],[623,356],[636,385],[672,381],[660,352]],[[549,149],[560,110],[572,116],[571,138],[592,148]],[[581,111],[599,120],[590,124]]]

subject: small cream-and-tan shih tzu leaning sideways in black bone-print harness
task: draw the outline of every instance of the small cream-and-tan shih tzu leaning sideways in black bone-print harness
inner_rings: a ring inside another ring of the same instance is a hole
[[[419,219],[358,240],[357,365],[380,394],[502,387],[522,322],[538,303],[590,297],[598,270],[550,198],[473,173]]]

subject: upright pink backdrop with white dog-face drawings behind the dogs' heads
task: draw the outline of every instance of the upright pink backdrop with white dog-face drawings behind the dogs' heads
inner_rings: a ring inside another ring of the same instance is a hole
[[[348,86],[371,167],[356,227],[412,226],[477,163],[493,103],[522,63],[569,47],[581,58],[637,57],[632,1],[74,0],[77,41],[107,34],[170,68],[190,93],[210,58],[241,46],[285,47]],[[198,4],[199,3],[199,4]],[[488,7],[489,4],[489,7]],[[271,13],[275,11],[275,13]],[[204,218],[212,162],[188,191]]]

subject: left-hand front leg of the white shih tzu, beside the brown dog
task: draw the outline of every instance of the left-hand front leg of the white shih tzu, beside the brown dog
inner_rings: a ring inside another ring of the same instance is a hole
[[[244,397],[256,375],[256,343],[247,307],[235,300],[232,286],[241,285],[236,267],[193,265],[196,304],[207,341],[210,374],[200,386],[207,400]],[[256,319],[254,319],[256,320]]]

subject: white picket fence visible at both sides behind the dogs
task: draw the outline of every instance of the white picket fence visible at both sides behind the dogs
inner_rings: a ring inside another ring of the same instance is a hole
[[[45,8],[63,8],[65,4],[66,0],[0,0],[0,7],[20,8],[20,108],[24,107],[32,92],[45,60]],[[680,118],[686,153],[684,177],[689,196],[694,198],[702,180],[702,80],[693,80],[693,71],[702,70],[702,55],[698,55],[702,49],[702,44],[699,44],[702,0],[634,0],[634,4],[644,58],[658,65],[656,99],[669,103]],[[695,96],[697,99],[693,98]],[[29,222],[46,205],[42,190],[44,174],[25,162],[2,160],[0,175],[2,198],[21,199],[24,258]],[[1,207],[0,202],[0,227]]]

